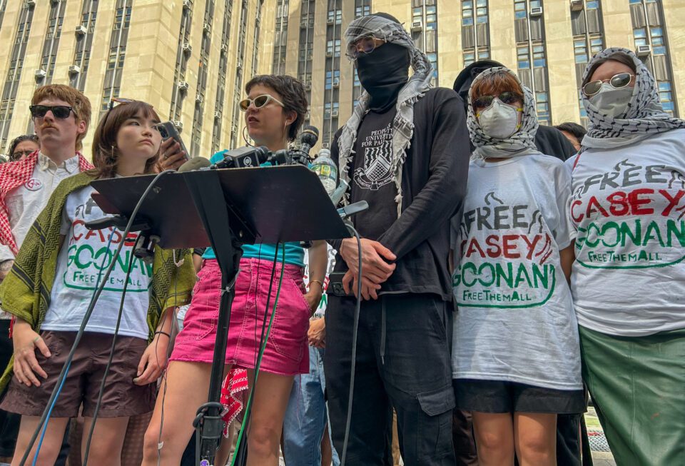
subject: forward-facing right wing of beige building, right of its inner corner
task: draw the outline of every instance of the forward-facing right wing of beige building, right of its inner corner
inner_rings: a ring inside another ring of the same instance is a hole
[[[272,71],[298,76],[310,123],[329,144],[360,94],[342,33],[357,16],[385,11],[412,33],[452,87],[464,66],[492,59],[517,71],[542,123],[587,123],[579,83],[607,46],[636,51],[654,73],[666,111],[685,111],[685,2],[681,0],[276,0]]]

